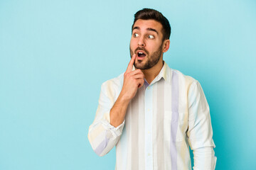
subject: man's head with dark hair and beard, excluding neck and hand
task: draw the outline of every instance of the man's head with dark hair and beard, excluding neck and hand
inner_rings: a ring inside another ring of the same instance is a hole
[[[169,21],[154,9],[144,8],[134,15],[130,55],[136,54],[137,69],[151,69],[163,62],[163,53],[169,49],[171,26]]]

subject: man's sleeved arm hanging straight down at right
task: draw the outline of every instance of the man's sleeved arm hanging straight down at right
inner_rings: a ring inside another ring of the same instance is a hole
[[[193,150],[194,170],[215,169],[216,157],[213,148],[213,129],[210,110],[198,81],[188,91],[188,142]]]

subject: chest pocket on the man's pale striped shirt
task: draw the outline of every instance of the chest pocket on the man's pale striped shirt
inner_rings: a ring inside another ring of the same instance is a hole
[[[188,123],[185,113],[173,113],[167,111],[164,118],[165,135],[170,137],[171,142],[181,142],[186,138]]]

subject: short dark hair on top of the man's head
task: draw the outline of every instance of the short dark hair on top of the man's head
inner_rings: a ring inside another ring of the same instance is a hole
[[[170,38],[170,35],[171,35],[170,23],[168,19],[165,16],[163,16],[163,14],[161,14],[161,12],[151,8],[143,8],[142,10],[137,11],[137,13],[134,14],[134,23],[138,19],[142,19],[142,20],[152,19],[154,21],[158,21],[163,26],[163,29],[162,29],[162,33],[164,35],[163,40],[168,40]],[[132,29],[133,29],[134,23],[132,24]]]

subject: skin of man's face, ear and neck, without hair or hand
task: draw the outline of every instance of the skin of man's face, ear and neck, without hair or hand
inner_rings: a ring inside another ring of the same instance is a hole
[[[169,50],[170,40],[163,41],[162,28],[161,23],[158,21],[139,19],[134,23],[132,31],[132,38],[130,41],[131,56],[136,52],[138,47],[144,48],[149,52],[144,60],[135,60],[135,67],[142,67],[142,65],[146,64],[146,62],[151,59],[151,55],[153,55],[154,52],[159,52],[160,50],[159,61],[150,69],[142,69],[145,79],[149,84],[161,71],[161,68],[163,67],[164,52]]]

